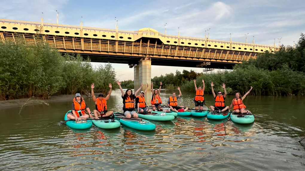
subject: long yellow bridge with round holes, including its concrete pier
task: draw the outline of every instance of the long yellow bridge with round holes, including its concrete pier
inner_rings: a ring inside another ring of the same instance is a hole
[[[275,46],[162,34],[155,29],[138,31],[101,29],[41,22],[0,19],[3,43],[24,39],[36,44],[37,36],[61,53],[90,57],[92,62],[125,63],[134,67],[135,88],[150,85],[151,65],[230,69],[256,59]],[[150,89],[150,86],[149,86]]]

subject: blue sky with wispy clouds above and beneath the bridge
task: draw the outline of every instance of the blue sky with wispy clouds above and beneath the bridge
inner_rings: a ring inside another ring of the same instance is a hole
[[[115,29],[115,17],[120,30],[136,31],[152,28],[167,34],[204,38],[210,29],[210,39],[273,45],[293,46],[300,33],[305,33],[304,0],[0,0],[0,18],[23,21]],[[43,15],[42,15],[43,12]],[[83,17],[83,18],[81,18]],[[92,63],[94,67],[102,63]],[[133,80],[134,70],[127,64],[113,64],[119,80]],[[202,68],[152,66],[152,77],[176,70]]]

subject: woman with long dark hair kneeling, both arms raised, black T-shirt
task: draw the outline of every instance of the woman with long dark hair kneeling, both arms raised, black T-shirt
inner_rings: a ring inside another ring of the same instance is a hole
[[[117,81],[117,84],[119,85],[122,92],[124,116],[126,118],[138,118],[138,114],[135,111],[135,94],[141,90],[143,83],[141,83],[141,87],[135,92],[135,94],[132,94],[132,90],[130,88],[128,88],[124,94],[124,91],[121,87],[121,82]]]

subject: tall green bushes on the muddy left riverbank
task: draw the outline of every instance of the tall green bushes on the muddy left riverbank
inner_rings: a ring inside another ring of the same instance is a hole
[[[112,83],[117,88],[111,64],[94,69],[80,55],[62,55],[42,41],[37,45],[0,43],[0,100],[60,94],[106,92]]]

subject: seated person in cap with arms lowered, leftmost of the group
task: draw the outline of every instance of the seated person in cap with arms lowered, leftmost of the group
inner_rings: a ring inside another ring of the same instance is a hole
[[[72,102],[72,114],[68,114],[67,117],[70,119],[75,119],[76,121],[81,119],[88,119],[89,117],[93,119],[92,115],[88,115],[85,110],[88,111],[90,114],[90,109],[88,105],[85,103],[83,97],[81,97],[81,94],[76,93],[75,98]]]

